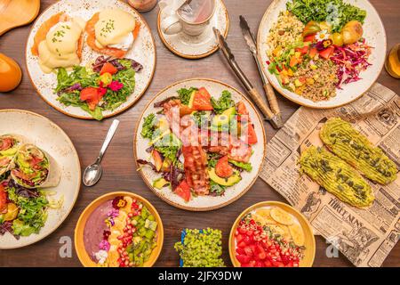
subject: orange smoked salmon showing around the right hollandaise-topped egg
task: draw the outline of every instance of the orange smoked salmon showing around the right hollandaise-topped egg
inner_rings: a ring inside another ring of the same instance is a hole
[[[96,33],[95,33],[95,25],[99,21],[99,12],[96,12],[93,14],[92,19],[88,20],[86,23],[86,33],[87,33],[87,39],[86,43],[89,45],[92,50],[98,52],[98,53],[103,53],[107,54],[109,56],[113,56],[119,59],[124,58],[126,55],[126,51],[115,48],[115,47],[104,47],[100,48],[99,46],[96,45]],[[140,31],[140,22],[136,20],[135,22],[135,28],[132,31],[133,38],[135,39],[138,37]]]

